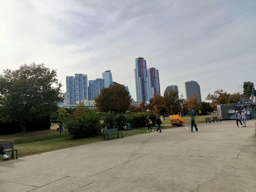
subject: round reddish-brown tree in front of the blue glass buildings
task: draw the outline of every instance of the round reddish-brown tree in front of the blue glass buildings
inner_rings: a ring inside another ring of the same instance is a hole
[[[100,94],[94,100],[97,111],[114,113],[128,111],[132,101],[123,85],[110,85],[108,88],[101,89]]]

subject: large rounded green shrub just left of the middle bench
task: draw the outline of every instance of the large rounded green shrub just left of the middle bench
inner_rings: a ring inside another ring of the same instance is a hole
[[[85,109],[64,119],[64,127],[72,139],[94,137],[101,134],[100,115]]]

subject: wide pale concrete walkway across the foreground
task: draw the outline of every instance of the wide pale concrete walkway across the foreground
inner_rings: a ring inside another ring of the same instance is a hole
[[[1,192],[256,191],[255,120],[154,131],[0,163]]]

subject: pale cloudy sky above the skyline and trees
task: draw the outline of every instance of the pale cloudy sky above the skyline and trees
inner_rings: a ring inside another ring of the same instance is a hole
[[[0,1],[0,72],[44,63],[65,76],[128,86],[136,100],[135,59],[158,69],[161,95],[185,81],[208,93],[256,87],[256,1]]]

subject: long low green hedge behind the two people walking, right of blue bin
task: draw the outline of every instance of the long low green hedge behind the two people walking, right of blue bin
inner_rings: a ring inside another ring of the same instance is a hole
[[[149,119],[151,119],[152,125],[155,125],[157,117],[152,113],[128,113],[126,120],[128,123],[130,123],[131,127],[145,127],[147,123],[147,116],[149,116]]]

